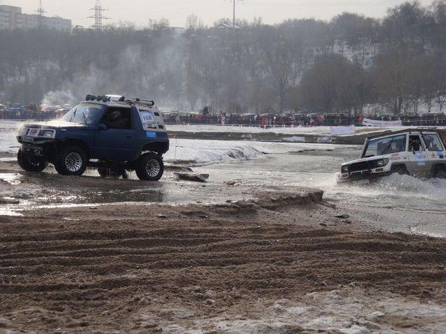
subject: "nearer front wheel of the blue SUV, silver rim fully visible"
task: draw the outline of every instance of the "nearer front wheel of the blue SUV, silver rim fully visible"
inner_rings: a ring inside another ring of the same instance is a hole
[[[87,163],[86,152],[79,146],[68,146],[57,154],[54,167],[61,175],[82,175]]]

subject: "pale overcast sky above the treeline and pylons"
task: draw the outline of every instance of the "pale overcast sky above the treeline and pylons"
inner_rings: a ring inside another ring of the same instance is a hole
[[[433,0],[420,0],[429,6]],[[96,0],[42,0],[47,16],[60,16],[71,19],[73,26],[91,26]],[[364,14],[370,17],[383,17],[387,8],[397,6],[402,0],[236,0],[236,17],[252,22],[261,17],[266,24],[274,24],[289,18],[313,17],[330,19],[344,11]],[[169,19],[171,26],[184,26],[187,16],[197,15],[201,21],[212,26],[222,17],[232,18],[231,0],[101,0],[102,8],[110,19],[103,22],[120,21],[146,25],[148,19]],[[22,7],[22,13],[33,14],[39,5],[38,0],[0,0],[0,4]]]

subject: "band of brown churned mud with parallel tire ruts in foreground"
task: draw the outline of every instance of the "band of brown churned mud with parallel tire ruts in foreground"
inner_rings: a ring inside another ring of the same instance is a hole
[[[263,209],[255,219],[251,212],[229,218],[208,210],[197,219],[177,211],[169,219],[85,214],[63,224],[20,217],[0,223],[0,317],[22,329],[57,323],[93,331],[132,328],[132,319],[115,323],[146,307],[146,294],[200,313],[218,312],[213,303],[242,308],[349,284],[433,297],[445,288],[443,239],[320,228],[317,221],[265,223]]]

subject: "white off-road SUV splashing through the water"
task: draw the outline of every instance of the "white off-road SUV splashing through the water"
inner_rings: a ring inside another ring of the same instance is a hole
[[[436,128],[403,129],[369,136],[360,159],[341,165],[340,181],[409,174],[446,178],[446,151]]]

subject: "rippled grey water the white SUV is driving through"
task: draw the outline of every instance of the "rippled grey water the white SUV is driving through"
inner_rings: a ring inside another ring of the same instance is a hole
[[[209,173],[211,182],[238,180],[261,189],[318,188],[325,200],[372,226],[446,237],[446,180],[390,175],[373,182],[339,184],[341,164],[359,153],[359,147],[333,146],[333,150],[271,154],[266,159],[195,169]]]

